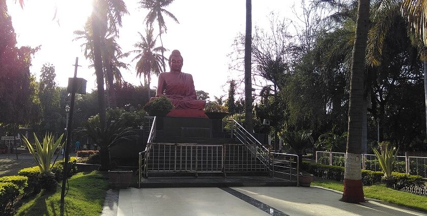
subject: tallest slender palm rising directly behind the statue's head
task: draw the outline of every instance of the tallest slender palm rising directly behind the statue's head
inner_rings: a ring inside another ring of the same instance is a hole
[[[157,20],[159,24],[159,36],[160,36],[160,43],[163,47],[163,41],[162,41],[162,33],[167,32],[167,27],[165,23],[165,19],[163,17],[163,14],[166,14],[170,18],[172,18],[176,23],[178,22],[178,19],[169,11],[165,10],[164,7],[170,5],[173,2],[173,0],[141,0],[139,4],[141,4],[141,8],[145,8],[150,10],[145,17],[145,23],[148,26],[153,26],[153,22]],[[165,61],[164,56],[164,50],[162,50],[162,60]],[[166,67],[163,65],[163,71],[166,72]]]

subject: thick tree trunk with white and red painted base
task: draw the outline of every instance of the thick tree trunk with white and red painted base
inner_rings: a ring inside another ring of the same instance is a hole
[[[357,27],[351,64],[347,153],[342,198],[342,201],[351,203],[364,201],[361,176],[361,140],[364,103],[363,72],[368,40],[369,3],[370,0],[359,0],[358,3]]]

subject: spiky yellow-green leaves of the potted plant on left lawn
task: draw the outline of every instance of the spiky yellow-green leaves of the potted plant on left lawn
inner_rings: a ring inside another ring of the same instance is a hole
[[[33,145],[28,141],[25,136],[23,137],[23,141],[25,145],[28,147],[29,152],[33,155],[34,161],[39,166],[41,172],[50,172],[52,165],[51,161],[53,158],[53,154],[56,149],[62,148],[64,143],[61,143],[64,134],[62,134],[56,141],[54,141],[54,136],[52,134],[46,134],[43,139],[43,145],[40,144],[39,139],[36,134],[34,134],[34,140],[36,141],[37,152],[33,148]],[[59,145],[61,145],[59,147]]]

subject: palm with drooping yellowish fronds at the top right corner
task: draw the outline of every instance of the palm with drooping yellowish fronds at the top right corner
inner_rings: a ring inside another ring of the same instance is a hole
[[[418,47],[424,70],[425,126],[427,129],[427,0],[404,0],[402,14],[408,17],[412,42]],[[425,130],[427,133],[427,130]]]

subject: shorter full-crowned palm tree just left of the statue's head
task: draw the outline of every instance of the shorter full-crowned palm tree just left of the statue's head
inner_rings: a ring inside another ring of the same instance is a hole
[[[153,31],[153,27],[147,28],[145,30],[146,37],[142,36],[141,33],[138,33],[141,37],[141,41],[134,45],[137,49],[124,54],[125,56],[128,56],[131,53],[137,54],[132,61],[138,60],[135,68],[136,74],[139,75],[139,77],[144,75],[144,80],[145,77],[147,77],[148,98],[150,98],[151,74],[159,75],[162,72],[162,66],[165,67],[165,61],[162,59],[163,55],[158,52],[161,51],[163,53],[166,49],[162,46],[155,47],[157,37],[153,38]]]

